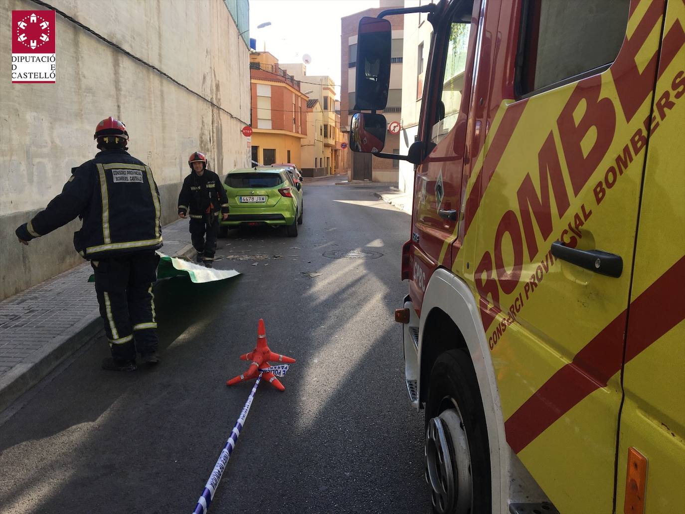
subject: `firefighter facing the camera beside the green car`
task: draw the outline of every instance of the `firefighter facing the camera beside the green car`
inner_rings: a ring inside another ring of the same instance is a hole
[[[188,159],[192,170],[183,181],[178,197],[178,215],[190,216],[190,239],[197,250],[197,262],[211,268],[219,236],[219,213],[228,217],[228,198],[219,175],[207,169],[207,158],[199,151]],[[205,241],[205,234],[207,240]]]

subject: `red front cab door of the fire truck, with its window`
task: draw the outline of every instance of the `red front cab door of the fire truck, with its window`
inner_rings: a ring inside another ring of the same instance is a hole
[[[466,4],[466,5],[465,5]],[[415,251],[412,296],[422,298],[423,278],[440,265],[450,265],[452,234],[460,210],[462,168],[466,140],[469,91],[479,1],[453,2],[436,29],[427,70],[429,86],[423,98],[422,138],[427,157],[416,169],[414,182]],[[418,275],[418,276],[417,276]],[[419,278],[419,280],[416,280]]]

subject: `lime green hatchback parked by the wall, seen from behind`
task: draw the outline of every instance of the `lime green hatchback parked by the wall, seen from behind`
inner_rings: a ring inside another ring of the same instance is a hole
[[[228,197],[228,219],[221,220],[221,235],[229,228],[270,225],[285,227],[297,237],[302,224],[301,184],[284,168],[240,168],[229,171],[223,187]]]

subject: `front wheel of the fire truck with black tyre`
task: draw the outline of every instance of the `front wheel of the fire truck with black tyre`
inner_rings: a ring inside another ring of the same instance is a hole
[[[464,350],[436,359],[425,415],[425,478],[434,512],[489,513],[488,433],[475,371]]]

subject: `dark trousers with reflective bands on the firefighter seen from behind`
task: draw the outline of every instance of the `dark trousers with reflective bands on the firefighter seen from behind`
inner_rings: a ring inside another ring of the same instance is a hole
[[[100,315],[115,360],[135,360],[136,350],[141,355],[157,350],[152,284],[158,262],[155,252],[90,261]]]

